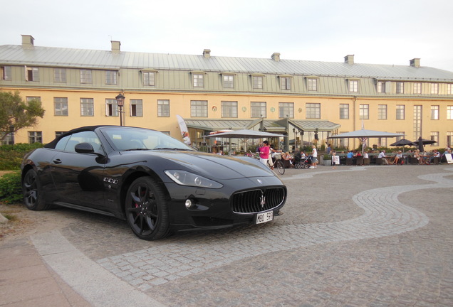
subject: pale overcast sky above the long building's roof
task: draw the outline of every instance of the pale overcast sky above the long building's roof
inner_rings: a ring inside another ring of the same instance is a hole
[[[0,0],[0,45],[422,66],[453,72],[452,0]]]

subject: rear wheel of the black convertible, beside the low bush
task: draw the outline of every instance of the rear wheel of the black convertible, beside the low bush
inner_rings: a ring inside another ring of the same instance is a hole
[[[26,172],[24,182],[22,183],[22,193],[26,208],[34,211],[49,208],[49,205],[44,202],[43,188],[41,181],[39,181],[38,173],[35,170],[30,169]]]

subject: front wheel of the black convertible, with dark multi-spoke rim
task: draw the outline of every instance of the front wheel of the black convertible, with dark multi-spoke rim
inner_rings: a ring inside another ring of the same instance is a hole
[[[137,178],[127,189],[125,213],[140,239],[162,239],[170,233],[165,193],[152,178]]]

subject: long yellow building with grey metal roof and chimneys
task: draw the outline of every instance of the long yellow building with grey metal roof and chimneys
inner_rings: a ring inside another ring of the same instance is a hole
[[[0,90],[40,99],[46,114],[38,125],[14,134],[16,143],[48,143],[78,126],[120,124],[115,97],[125,96],[121,122],[181,139],[176,115],[192,141],[221,129],[265,129],[297,144],[326,144],[328,136],[365,129],[452,144],[453,72],[420,65],[370,65],[130,53],[112,41],[111,50],[21,45],[0,46]],[[283,140],[283,139],[282,139]],[[371,139],[388,146],[396,139]],[[358,147],[358,141],[342,141]],[[288,142],[282,146],[288,147]],[[340,145],[340,144],[335,144]]]

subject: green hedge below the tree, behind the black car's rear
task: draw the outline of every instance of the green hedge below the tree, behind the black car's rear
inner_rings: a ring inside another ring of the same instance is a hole
[[[0,171],[18,170],[25,154],[42,146],[41,143],[0,146]]]

